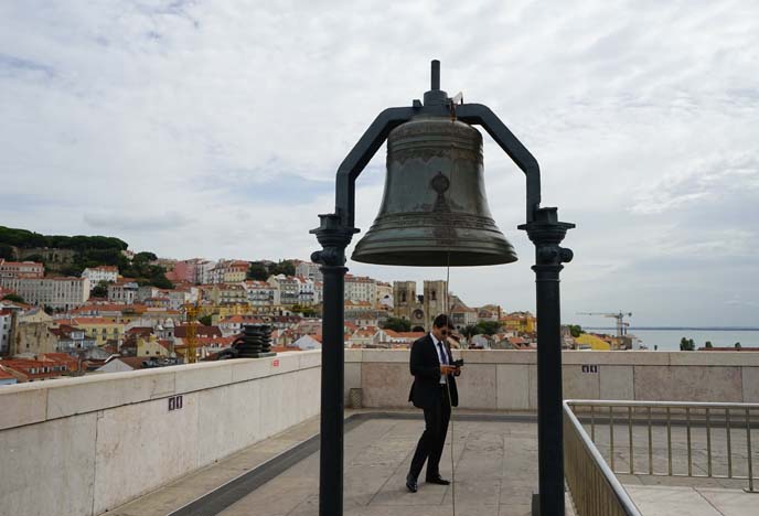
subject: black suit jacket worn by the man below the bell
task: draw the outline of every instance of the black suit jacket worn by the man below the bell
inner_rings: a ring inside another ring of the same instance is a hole
[[[453,361],[448,343],[446,343],[445,348],[450,364]],[[414,375],[414,384],[411,384],[411,390],[408,393],[408,400],[421,409],[439,404],[442,395],[440,389],[440,358],[438,357],[437,345],[429,333],[411,345],[411,358],[408,365],[411,375]],[[451,406],[458,407],[459,391],[456,388],[453,375],[448,375],[448,385]]]

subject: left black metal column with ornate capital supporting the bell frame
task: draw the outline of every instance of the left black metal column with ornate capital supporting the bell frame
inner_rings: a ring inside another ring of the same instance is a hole
[[[334,214],[320,215],[317,235],[323,250],[311,255],[324,275],[321,345],[321,424],[319,450],[319,515],[343,514],[343,385],[345,365],[345,247],[356,229],[345,228]]]

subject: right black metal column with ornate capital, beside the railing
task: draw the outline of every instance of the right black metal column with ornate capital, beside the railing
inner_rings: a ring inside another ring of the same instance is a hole
[[[564,516],[564,432],[562,415],[562,313],[559,272],[571,250],[559,247],[574,224],[559,223],[556,208],[539,208],[520,226],[535,244],[537,316],[537,459],[539,515]]]

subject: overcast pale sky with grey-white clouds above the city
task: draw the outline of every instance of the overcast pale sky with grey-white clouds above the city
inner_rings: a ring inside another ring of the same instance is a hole
[[[563,321],[759,326],[756,0],[3,1],[0,225],[180,259],[308,259],[336,166],[382,109],[421,97],[432,58],[577,224]],[[384,153],[357,183],[363,230]],[[452,269],[450,288],[534,310],[524,176],[487,136],[485,183],[520,261]]]

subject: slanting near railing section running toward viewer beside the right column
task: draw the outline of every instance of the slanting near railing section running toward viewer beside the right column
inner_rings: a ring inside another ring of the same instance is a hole
[[[567,401],[564,402],[564,476],[579,516],[640,516]]]

